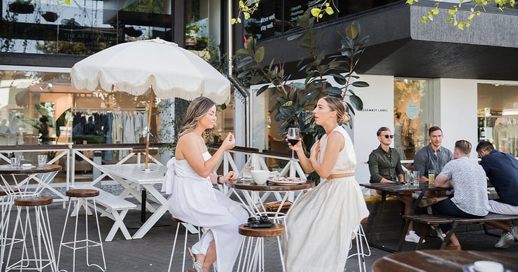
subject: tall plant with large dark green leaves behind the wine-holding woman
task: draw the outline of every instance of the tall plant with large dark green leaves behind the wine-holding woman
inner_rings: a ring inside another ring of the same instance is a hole
[[[256,47],[253,37],[247,39],[245,48],[235,53],[235,67],[239,71],[237,77],[249,78],[251,85],[265,83],[255,95],[269,90],[269,98],[276,100],[269,111],[280,123],[281,137],[286,135],[288,128],[299,127],[307,151],[314,140],[324,133],[311,115],[316,101],[326,95],[340,97],[351,116],[349,127],[352,128],[354,114],[363,110],[363,101],[354,93],[353,87],[369,86],[355,74],[356,64],[365,50],[365,43],[369,41],[369,36],[360,36],[358,22],[347,25],[343,34],[338,32],[341,42],[337,55],[326,55],[318,47],[318,41],[323,39],[320,39],[321,32],[313,29],[314,22],[315,17],[306,11],[297,20],[303,31],[288,36],[289,41],[298,42],[302,50],[308,51],[308,55],[297,64],[298,72],[306,74],[303,82],[290,81],[291,75],[286,74],[281,62],[274,59],[265,62],[265,48]]]

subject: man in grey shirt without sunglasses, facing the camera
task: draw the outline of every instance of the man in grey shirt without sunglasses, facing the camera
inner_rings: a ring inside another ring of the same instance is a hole
[[[433,126],[428,129],[430,144],[417,151],[414,156],[414,170],[419,171],[420,182],[428,182],[428,170],[435,170],[435,176],[439,175],[447,162],[453,160],[453,153],[446,147],[442,147],[442,130]]]

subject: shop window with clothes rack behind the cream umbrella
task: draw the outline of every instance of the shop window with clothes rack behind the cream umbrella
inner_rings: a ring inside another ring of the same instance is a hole
[[[0,94],[0,145],[106,143],[109,130],[102,122],[109,113],[131,116],[131,143],[145,142],[147,120],[137,125],[136,118],[146,113],[146,95],[76,90],[69,73],[27,71],[1,71]]]

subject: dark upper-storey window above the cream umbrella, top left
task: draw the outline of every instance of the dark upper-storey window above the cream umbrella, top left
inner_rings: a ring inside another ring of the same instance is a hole
[[[171,1],[1,0],[0,52],[92,55],[160,37],[172,41]]]

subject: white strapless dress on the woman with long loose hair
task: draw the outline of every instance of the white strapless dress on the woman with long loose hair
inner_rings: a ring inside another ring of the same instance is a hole
[[[207,151],[203,158],[207,161],[211,154]],[[242,241],[238,226],[246,223],[248,213],[239,203],[214,189],[209,178],[197,175],[187,160],[172,158],[167,167],[162,191],[171,193],[169,212],[183,222],[203,228],[202,238],[191,247],[193,254],[206,254],[214,240],[216,269],[232,271]]]

